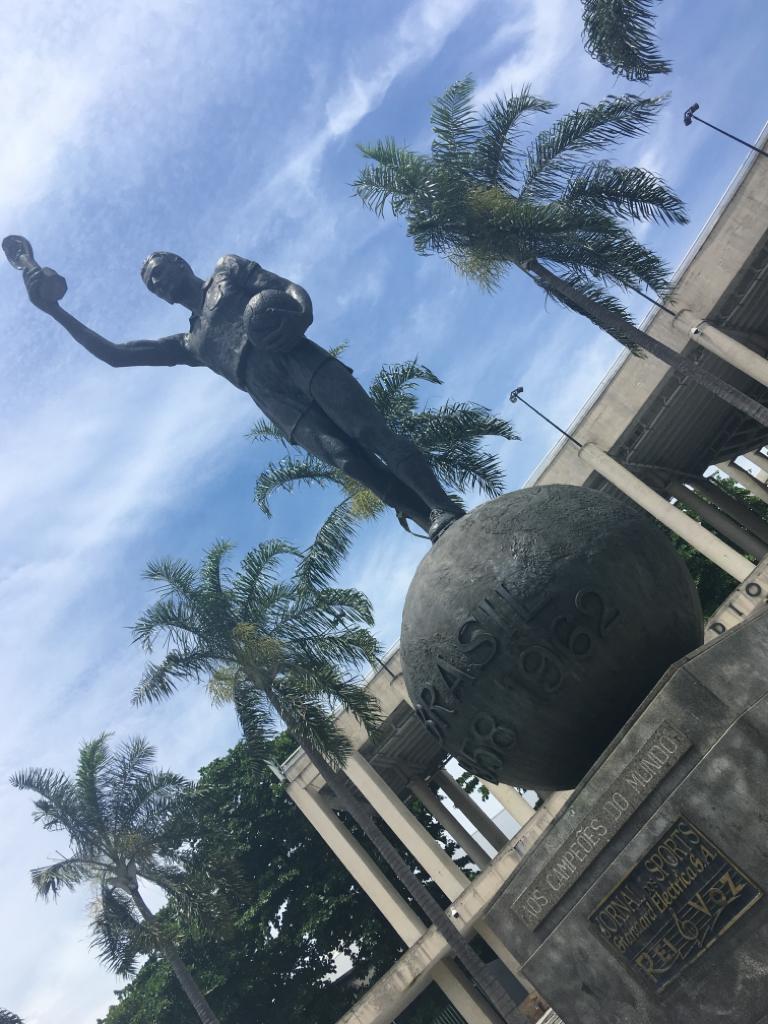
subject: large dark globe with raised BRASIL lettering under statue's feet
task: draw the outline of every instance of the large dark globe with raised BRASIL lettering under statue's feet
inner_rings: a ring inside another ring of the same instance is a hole
[[[662,529],[629,502],[557,484],[451,526],[411,584],[400,649],[418,715],[464,768],[566,790],[702,634]]]

